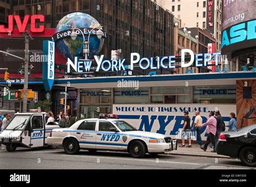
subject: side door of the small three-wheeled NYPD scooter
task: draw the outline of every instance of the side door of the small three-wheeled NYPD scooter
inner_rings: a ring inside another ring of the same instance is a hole
[[[43,115],[33,115],[31,117],[31,147],[42,147],[44,146],[44,123]]]

